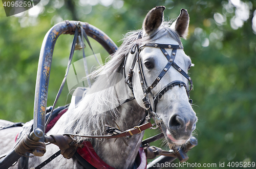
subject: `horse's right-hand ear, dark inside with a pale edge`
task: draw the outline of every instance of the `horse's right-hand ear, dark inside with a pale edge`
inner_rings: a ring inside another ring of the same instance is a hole
[[[180,37],[186,39],[188,33],[189,15],[187,10],[181,9],[180,15],[171,27],[179,34]]]

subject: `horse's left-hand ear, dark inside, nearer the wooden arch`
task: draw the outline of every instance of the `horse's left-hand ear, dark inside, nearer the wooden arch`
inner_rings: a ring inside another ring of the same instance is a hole
[[[143,32],[150,35],[153,34],[158,27],[163,22],[163,11],[165,10],[164,6],[156,7],[150,10],[146,14],[146,17],[143,21]]]

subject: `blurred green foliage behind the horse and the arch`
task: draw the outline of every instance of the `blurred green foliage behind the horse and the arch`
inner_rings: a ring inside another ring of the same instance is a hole
[[[220,162],[256,162],[256,35],[252,30],[255,1],[241,2],[249,7],[249,16],[240,27],[232,26],[240,8],[232,3],[239,0],[105,1],[112,2],[109,6],[104,6],[104,1],[81,2],[42,0],[38,15],[26,11],[18,17],[6,17],[0,4],[0,119],[26,122],[33,118],[40,47],[54,24],[62,20],[89,22],[119,46],[123,34],[141,29],[143,18],[153,7],[166,6],[166,20],[176,18],[185,8],[190,25],[189,36],[182,42],[195,64],[190,69],[194,81],[190,97],[199,119],[195,131],[199,144],[188,152],[188,162],[216,163],[217,167]],[[65,74],[72,38],[61,35],[56,43],[48,106],[53,104]],[[96,53],[106,58],[104,49],[91,41]],[[87,52],[91,54],[89,49]],[[76,51],[74,59],[81,58],[81,52]],[[69,101],[66,86],[58,105]],[[145,136],[153,132],[146,132]],[[161,142],[155,143],[158,144]]]

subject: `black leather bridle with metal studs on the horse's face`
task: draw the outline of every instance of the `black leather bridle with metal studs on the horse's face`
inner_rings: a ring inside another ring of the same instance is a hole
[[[138,39],[141,39],[141,35],[138,36]],[[140,58],[140,51],[142,47],[156,47],[156,48],[160,48],[161,51],[163,52],[164,56],[166,57],[166,59],[168,60],[168,63],[166,64],[166,66],[163,68],[163,70],[159,73],[159,75],[156,77],[156,79],[151,83],[151,85],[147,85],[145,77],[144,77],[144,73],[142,70],[142,63],[141,63],[141,58]],[[165,49],[173,49],[172,50],[172,54],[169,55],[169,53],[165,50]],[[142,98],[143,104],[145,106],[145,109],[148,111],[148,115],[149,116],[153,116],[155,117],[155,121],[156,118],[158,120],[160,120],[157,115],[156,115],[156,107],[157,107],[157,103],[158,100],[161,99],[161,97],[169,90],[172,89],[175,86],[180,86],[180,87],[185,87],[186,89],[186,93],[189,99],[189,92],[192,90],[193,88],[193,81],[191,80],[191,78],[189,77],[189,75],[182,70],[175,62],[175,57],[176,57],[176,53],[177,53],[177,49],[183,49],[183,46],[181,45],[173,45],[173,44],[160,44],[160,43],[146,43],[144,45],[139,46],[139,44],[135,44],[132,49],[131,49],[131,54],[135,53],[134,59],[133,59],[133,63],[130,67],[129,72],[127,73],[127,76],[125,77],[125,83],[127,83],[127,85],[129,86],[129,88],[132,90],[133,92],[133,86],[132,86],[132,77],[133,77],[133,69],[135,67],[136,62],[138,63],[138,67],[139,67],[139,78],[140,78],[140,84],[141,84],[141,88],[142,91],[144,93],[144,97]],[[125,62],[126,62],[126,58],[127,58],[127,54],[125,55]],[[124,76],[125,76],[125,62],[123,65],[123,70],[124,70]],[[180,72],[190,83],[187,85],[186,83],[184,83],[183,81],[172,81],[170,83],[168,83],[168,85],[166,85],[156,96],[154,96],[152,94],[152,89],[154,89],[156,87],[156,85],[159,83],[159,81],[162,79],[162,77],[165,75],[165,73],[169,70],[169,68],[173,66],[178,72]],[[150,103],[150,99],[148,98],[148,94],[152,94],[153,97],[153,101],[154,101],[154,111],[152,109],[151,103]],[[192,104],[192,100],[189,99],[189,103]],[[156,122],[157,124],[157,122]],[[158,125],[158,124],[157,124]]]

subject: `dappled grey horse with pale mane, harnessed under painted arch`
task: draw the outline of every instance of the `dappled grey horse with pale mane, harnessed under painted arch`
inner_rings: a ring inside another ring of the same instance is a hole
[[[83,98],[75,103],[71,101],[68,111],[61,116],[55,126],[47,133],[64,134],[75,133],[79,135],[105,135],[105,125],[120,127],[121,131],[133,128],[140,123],[145,116],[145,104],[142,98],[145,94],[142,90],[140,73],[143,73],[144,80],[151,84],[162,70],[166,71],[158,83],[147,94],[151,107],[156,109],[156,114],[161,119],[161,130],[168,145],[186,144],[196,128],[196,113],[189,103],[187,97],[188,78],[181,72],[188,73],[191,64],[190,58],[184,53],[180,37],[186,38],[188,32],[189,16],[186,10],[182,9],[179,17],[172,24],[163,21],[165,7],[153,8],[147,13],[142,30],[129,32],[123,39],[122,45],[108,63],[94,72],[97,80],[92,88],[86,90]],[[140,38],[138,38],[140,35]],[[124,81],[123,72],[129,72],[136,53],[131,53],[136,44],[143,46],[145,43],[167,44],[166,52],[169,55],[176,55],[175,63],[179,69],[173,66],[164,69],[168,60],[160,48],[140,47],[139,59],[141,70],[135,64],[132,76],[132,88]],[[178,45],[176,53],[172,53],[171,45]],[[126,58],[126,60],[125,60]],[[125,62],[126,61],[126,62]],[[123,70],[124,69],[124,70]],[[178,70],[178,71],[177,71]],[[140,72],[142,71],[142,72]],[[190,78],[190,77],[189,77]],[[121,80],[120,80],[121,79]],[[167,90],[159,98],[158,104],[153,104],[154,97],[170,82],[182,81],[182,84],[175,85]],[[129,98],[131,101],[126,102]],[[0,121],[1,123],[8,123]],[[0,154],[6,153],[15,145],[15,137],[22,130],[22,127],[13,127],[0,130]],[[143,134],[135,134],[129,139],[88,139],[91,141],[97,155],[108,165],[114,168],[133,168],[136,155],[139,151]],[[5,138],[5,139],[3,139]],[[83,137],[75,137],[78,141]],[[42,157],[34,157],[29,160],[29,167],[35,167],[42,161],[48,159],[58,151],[55,145],[47,145],[47,152]],[[11,168],[17,168],[12,166]],[[58,156],[44,168],[83,168],[75,158],[66,159]]]

